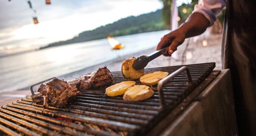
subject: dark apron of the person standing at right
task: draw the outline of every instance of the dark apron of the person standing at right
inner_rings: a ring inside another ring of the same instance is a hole
[[[227,0],[222,64],[230,69],[240,136],[256,135],[256,2]]]

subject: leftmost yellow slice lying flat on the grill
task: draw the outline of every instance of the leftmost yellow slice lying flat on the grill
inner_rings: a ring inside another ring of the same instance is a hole
[[[135,81],[124,81],[118,84],[114,84],[108,88],[106,88],[106,95],[108,96],[118,96],[123,95],[125,91],[135,85]]]

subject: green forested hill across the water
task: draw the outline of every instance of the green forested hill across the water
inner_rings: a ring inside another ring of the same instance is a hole
[[[160,31],[165,29],[165,23],[162,20],[161,10],[157,10],[155,12],[142,14],[136,17],[130,16],[127,18],[123,18],[111,24],[96,28],[94,30],[84,31],[72,39],[52,43],[46,47],[41,47],[40,49],[89,40],[96,40],[106,38],[107,36],[122,36],[129,34]]]

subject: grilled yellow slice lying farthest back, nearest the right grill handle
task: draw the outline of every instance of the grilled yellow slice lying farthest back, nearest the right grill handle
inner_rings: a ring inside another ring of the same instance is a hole
[[[163,71],[156,71],[144,74],[140,77],[140,82],[144,85],[156,85],[160,80],[167,77],[169,73]]]

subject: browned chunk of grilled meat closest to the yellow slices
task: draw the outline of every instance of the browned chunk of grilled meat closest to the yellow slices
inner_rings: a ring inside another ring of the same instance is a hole
[[[103,88],[113,84],[113,75],[108,68],[99,68],[90,78],[90,83],[95,88]]]

